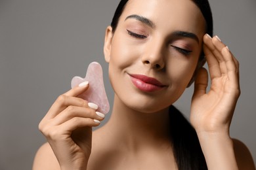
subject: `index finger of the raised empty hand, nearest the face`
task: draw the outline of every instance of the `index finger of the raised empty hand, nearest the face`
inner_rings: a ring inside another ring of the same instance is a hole
[[[211,77],[211,80],[216,77],[221,76],[221,69],[219,67],[219,61],[217,61],[217,58],[211,53],[211,50],[205,45],[203,45],[203,52],[205,54],[205,58],[207,61],[207,65],[209,67],[209,74]]]

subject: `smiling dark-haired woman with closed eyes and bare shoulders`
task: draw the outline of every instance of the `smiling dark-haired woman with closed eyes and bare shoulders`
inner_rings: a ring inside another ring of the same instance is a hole
[[[60,95],[39,124],[49,143],[33,169],[255,169],[229,135],[238,61],[210,35],[207,1],[121,1],[104,44],[115,92],[110,120],[92,133],[104,114],[77,97],[88,82]],[[190,126],[172,105],[194,78]]]

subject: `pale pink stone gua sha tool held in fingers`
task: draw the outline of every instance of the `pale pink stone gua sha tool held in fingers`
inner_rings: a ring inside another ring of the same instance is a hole
[[[99,63],[93,62],[89,64],[85,78],[74,76],[71,81],[71,87],[74,88],[85,81],[89,82],[89,88],[78,97],[88,102],[95,103],[98,105],[98,112],[107,114],[110,110],[110,104],[108,103],[108,97],[104,88],[102,67]]]

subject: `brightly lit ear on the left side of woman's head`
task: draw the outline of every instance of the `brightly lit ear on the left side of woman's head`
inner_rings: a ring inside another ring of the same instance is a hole
[[[110,62],[110,54],[111,54],[111,44],[112,44],[112,27],[108,26],[106,28],[106,33],[105,33],[105,41],[104,41],[104,56],[105,56],[105,61],[107,63]]]

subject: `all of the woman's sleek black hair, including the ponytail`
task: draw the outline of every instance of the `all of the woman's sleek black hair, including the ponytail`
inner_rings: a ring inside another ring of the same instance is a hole
[[[121,0],[117,6],[116,12],[111,22],[112,32],[116,31],[125,5],[128,0]],[[213,16],[211,14],[211,7],[207,0],[193,0],[198,6],[205,18],[205,33],[213,36]],[[200,54],[200,61],[203,61],[203,50]],[[205,158],[203,156],[202,148],[200,146],[198,136],[194,127],[184,118],[179,110],[175,107],[169,107],[171,141],[173,144],[173,152],[175,156],[178,169],[180,170],[204,170],[207,169]]]

